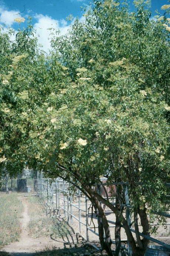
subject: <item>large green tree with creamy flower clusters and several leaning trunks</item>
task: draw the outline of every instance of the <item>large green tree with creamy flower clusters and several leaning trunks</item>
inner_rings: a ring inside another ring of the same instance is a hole
[[[19,31],[1,75],[1,90],[12,95],[2,98],[8,126],[1,127],[7,134],[1,162],[26,161],[79,187],[96,209],[108,255],[111,236],[100,201],[116,214],[116,255],[121,224],[133,255],[144,255],[148,241],[139,235],[138,219],[149,235],[148,216],[167,209],[170,6],[150,19],[147,3],[135,4],[136,12],[129,13],[126,2],[95,0],[82,23],[76,20],[68,35],[53,37],[49,57],[37,52],[29,27]],[[129,183],[137,245],[121,198],[113,206],[91,189],[100,176]]]

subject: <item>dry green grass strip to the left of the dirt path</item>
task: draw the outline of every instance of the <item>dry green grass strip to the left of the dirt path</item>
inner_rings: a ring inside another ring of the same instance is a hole
[[[4,245],[19,240],[21,228],[18,219],[23,205],[16,193],[0,193],[0,249]]]

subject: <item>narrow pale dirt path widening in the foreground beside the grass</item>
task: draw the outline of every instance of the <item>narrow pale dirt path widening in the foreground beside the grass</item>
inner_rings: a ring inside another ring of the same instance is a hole
[[[63,239],[53,240],[50,237],[39,237],[32,238],[29,236],[28,224],[30,221],[30,216],[28,214],[28,203],[27,198],[24,196],[19,196],[19,200],[23,203],[23,214],[20,218],[21,223],[21,236],[18,242],[11,243],[3,247],[5,252],[8,252],[11,256],[32,256],[36,252],[40,252],[46,248],[68,248],[76,243],[76,236],[67,237],[64,241]]]

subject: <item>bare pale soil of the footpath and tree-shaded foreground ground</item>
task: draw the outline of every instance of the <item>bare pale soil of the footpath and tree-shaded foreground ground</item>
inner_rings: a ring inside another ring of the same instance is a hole
[[[10,245],[3,247],[3,252],[9,253],[11,256],[32,256],[32,255],[43,255],[43,252],[54,249],[71,249],[77,248],[77,253],[74,255],[83,255],[81,254],[81,246],[82,252],[89,254],[89,249],[93,252],[95,249],[90,245],[86,245],[82,240],[82,237],[76,234],[73,230],[73,235],[67,236],[64,238],[53,239],[53,237],[39,237],[32,238],[29,236],[29,228],[28,224],[30,222],[30,216],[28,214],[28,202],[24,194],[18,197],[23,203],[23,214],[20,218],[21,223],[21,236],[18,242],[11,243]],[[85,246],[85,247],[84,247]],[[87,248],[89,247],[89,249]],[[73,249],[72,249],[73,250]],[[43,252],[42,252],[43,251]],[[56,255],[71,255],[66,253],[62,253],[63,250],[60,251],[59,254]],[[70,251],[70,250],[69,250]],[[3,252],[0,252],[0,256],[3,255]],[[39,254],[40,253],[40,254]],[[71,251],[70,251],[71,253]]]

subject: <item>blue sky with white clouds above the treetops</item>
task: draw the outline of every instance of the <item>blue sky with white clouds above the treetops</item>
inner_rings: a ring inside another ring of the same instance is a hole
[[[130,0],[130,7],[133,10],[133,1]],[[50,47],[48,37],[50,31],[47,30],[50,27],[59,29],[61,34],[65,34],[69,23],[66,21],[66,17],[72,14],[73,17],[79,17],[83,19],[83,11],[80,7],[87,6],[89,0],[0,0],[0,24],[6,23],[6,26],[10,26],[17,30],[19,25],[14,22],[17,17],[27,16],[33,18],[34,28],[40,35],[39,43],[43,45],[44,50]],[[168,3],[168,0],[152,0],[151,9],[153,11],[158,9],[164,4]],[[22,24],[26,26],[26,22]]]

